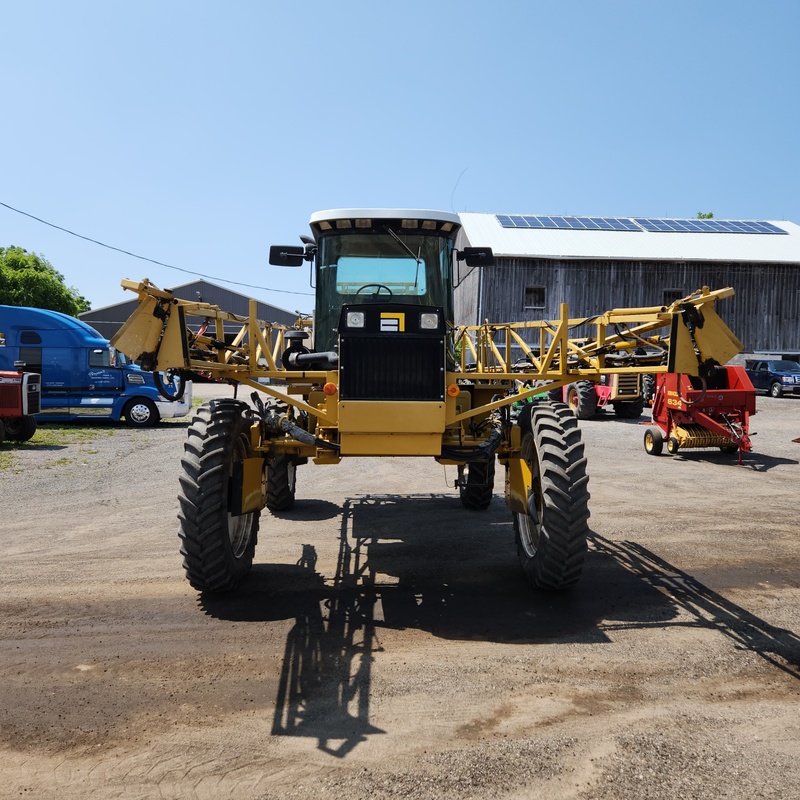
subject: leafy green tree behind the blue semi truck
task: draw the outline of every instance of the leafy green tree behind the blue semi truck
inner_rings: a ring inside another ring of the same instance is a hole
[[[91,308],[46,258],[13,245],[0,247],[0,304],[49,308],[73,317]]]

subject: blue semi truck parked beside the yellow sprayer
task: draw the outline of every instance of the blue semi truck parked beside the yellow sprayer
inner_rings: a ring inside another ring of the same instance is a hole
[[[0,370],[20,362],[42,376],[39,422],[125,420],[144,428],[186,416],[192,407],[191,382],[177,387],[160,378],[160,391],[160,376],[154,380],[85,322],[57,311],[0,306]]]

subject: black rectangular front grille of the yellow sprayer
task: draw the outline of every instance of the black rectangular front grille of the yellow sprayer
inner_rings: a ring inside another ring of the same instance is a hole
[[[339,340],[342,400],[444,400],[444,339],[385,334]]]

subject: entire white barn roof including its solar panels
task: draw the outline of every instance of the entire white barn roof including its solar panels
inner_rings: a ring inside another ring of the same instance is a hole
[[[788,221],[711,220],[718,229],[754,228],[759,233],[664,230],[699,228],[699,220],[459,214],[470,244],[497,256],[553,259],[741,261],[800,264],[800,226]],[[578,222],[584,220],[586,222]],[[647,224],[651,223],[651,224]],[[594,230],[582,225],[598,226]],[[512,227],[513,225],[513,227]],[[530,227],[538,225],[540,227]],[[549,227],[546,227],[548,226]],[[563,226],[563,227],[556,227]],[[567,227],[567,226],[574,227]],[[608,226],[601,229],[599,226]],[[613,230],[611,227],[625,230]],[[651,230],[648,230],[651,228]],[[653,230],[653,228],[658,228]],[[773,231],[772,229],[777,229]]]

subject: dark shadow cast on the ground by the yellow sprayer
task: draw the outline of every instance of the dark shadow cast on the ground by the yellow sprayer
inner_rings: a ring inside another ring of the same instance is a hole
[[[330,518],[333,504],[307,509]],[[298,514],[303,514],[298,504]],[[609,641],[619,629],[715,630],[800,677],[800,639],[727,601],[635,542],[593,535],[584,575],[565,593],[523,580],[512,524],[495,498],[469,512],[452,496],[347,499],[335,574],[321,575],[316,549],[297,563],[257,565],[233,597],[202,595],[211,616],[294,619],[283,658],[272,733],[316,738],[344,757],[378,728],[370,723],[371,669],[382,629],[444,639],[519,645]],[[287,515],[288,516],[288,515]]]

